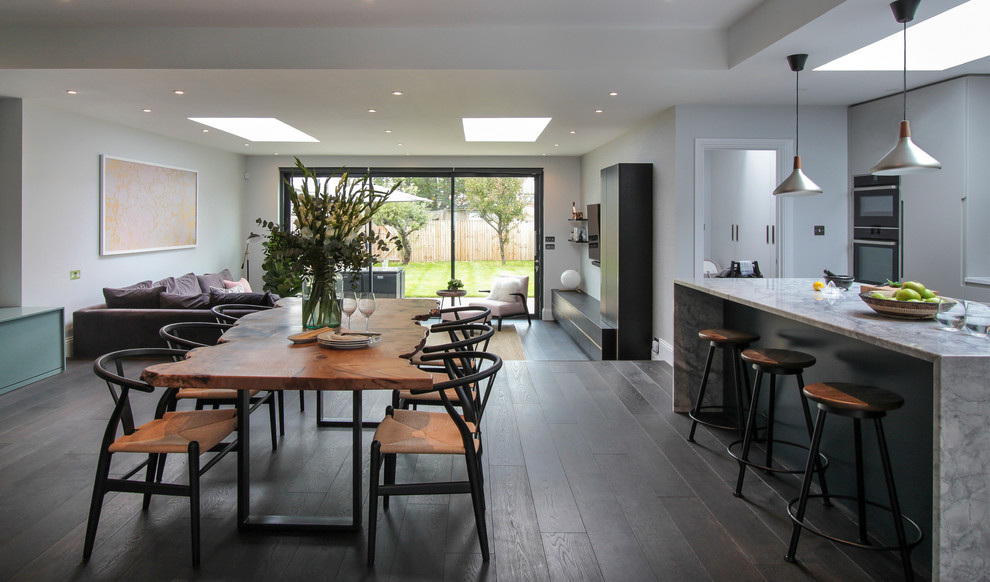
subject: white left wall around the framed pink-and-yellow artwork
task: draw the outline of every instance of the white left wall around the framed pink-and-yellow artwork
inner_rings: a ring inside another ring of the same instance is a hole
[[[103,287],[240,266],[242,156],[24,102],[24,305],[72,311],[103,302]],[[100,256],[100,154],[199,172],[193,249]],[[69,280],[69,271],[82,278]]]

